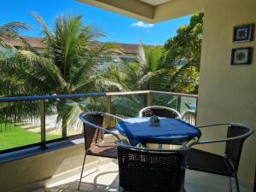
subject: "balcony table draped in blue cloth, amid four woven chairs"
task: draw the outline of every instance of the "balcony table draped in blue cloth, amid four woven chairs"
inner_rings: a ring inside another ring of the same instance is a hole
[[[145,143],[183,144],[193,138],[201,137],[201,131],[194,125],[184,122],[182,119],[159,118],[160,126],[151,126],[150,117],[137,117],[120,120],[116,125],[117,130],[127,137],[133,146]],[[185,172],[183,168],[183,172]],[[183,185],[180,190],[185,192],[184,174]]]

